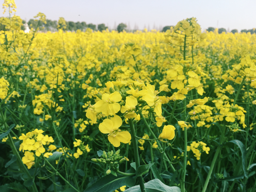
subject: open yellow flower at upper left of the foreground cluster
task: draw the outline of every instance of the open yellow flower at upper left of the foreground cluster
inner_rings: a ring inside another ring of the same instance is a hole
[[[121,106],[119,105],[119,102],[122,100],[122,96],[119,92],[115,91],[111,94],[104,93],[102,94],[102,100],[95,103],[94,109],[96,112],[104,114],[105,116],[113,116],[118,111],[120,111]]]

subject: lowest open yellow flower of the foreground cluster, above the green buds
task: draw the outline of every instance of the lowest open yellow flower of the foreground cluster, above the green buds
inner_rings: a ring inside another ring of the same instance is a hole
[[[120,142],[129,143],[131,140],[131,134],[129,132],[121,132],[121,130],[118,129],[122,123],[123,121],[121,117],[114,116],[110,119],[104,119],[104,121],[99,125],[100,132],[109,134],[107,138],[114,147],[119,147]]]

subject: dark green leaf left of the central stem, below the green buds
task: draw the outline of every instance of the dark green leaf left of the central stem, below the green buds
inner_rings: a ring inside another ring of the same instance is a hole
[[[117,188],[124,185],[126,185],[127,187],[132,187],[135,185],[135,183],[136,177],[121,176],[120,174],[117,174],[116,177],[112,174],[109,174],[93,183],[90,187],[84,190],[84,192],[113,192]]]

